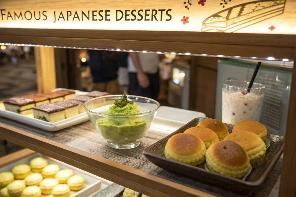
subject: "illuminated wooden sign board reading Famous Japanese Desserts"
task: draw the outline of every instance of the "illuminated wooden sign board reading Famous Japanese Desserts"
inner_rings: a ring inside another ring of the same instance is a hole
[[[0,28],[296,34],[295,0],[2,0]]]

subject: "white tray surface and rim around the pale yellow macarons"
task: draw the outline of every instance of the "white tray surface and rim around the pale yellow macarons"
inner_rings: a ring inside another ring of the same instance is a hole
[[[80,197],[80,196],[90,196],[93,193],[97,193],[98,191],[101,190],[101,180],[99,180],[99,177],[92,175],[88,172],[85,172],[81,169],[78,169],[76,167],[73,167],[71,165],[68,165],[64,162],[58,161],[56,159],[53,159],[51,157],[47,157],[44,156],[40,153],[35,153],[32,154],[28,157],[22,158],[16,162],[12,162],[4,167],[0,168],[0,172],[5,172],[5,171],[12,171],[12,168],[16,165],[19,164],[30,164],[30,160],[35,158],[35,157],[44,157],[45,159],[47,159],[49,164],[56,164],[59,166],[60,170],[63,169],[70,169],[73,171],[74,175],[81,175],[83,176],[84,180],[85,180],[85,188],[83,188],[82,190],[78,191],[78,192],[74,192],[71,191],[71,196],[70,197]],[[105,186],[106,187],[106,186]],[[44,196],[44,195],[43,195]],[[45,195],[48,196],[48,195]],[[50,195],[51,196],[51,195]]]

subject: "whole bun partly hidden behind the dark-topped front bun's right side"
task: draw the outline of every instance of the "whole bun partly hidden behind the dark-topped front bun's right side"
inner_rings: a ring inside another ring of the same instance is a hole
[[[242,146],[247,152],[253,168],[258,167],[262,163],[266,152],[266,145],[255,133],[250,131],[236,131],[229,134],[224,140],[234,141]]]

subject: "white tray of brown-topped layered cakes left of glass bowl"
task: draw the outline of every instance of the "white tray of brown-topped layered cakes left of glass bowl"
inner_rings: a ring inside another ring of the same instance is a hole
[[[57,88],[44,94],[13,97],[1,103],[0,116],[46,131],[58,131],[88,121],[83,103],[107,94]]]

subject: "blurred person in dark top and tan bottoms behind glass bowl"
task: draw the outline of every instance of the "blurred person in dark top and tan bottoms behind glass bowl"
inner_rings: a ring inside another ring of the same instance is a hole
[[[120,52],[89,50],[89,66],[92,75],[92,90],[121,94],[117,81],[118,67],[126,58]]]

